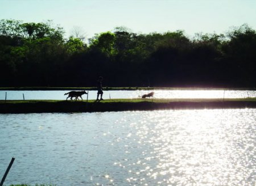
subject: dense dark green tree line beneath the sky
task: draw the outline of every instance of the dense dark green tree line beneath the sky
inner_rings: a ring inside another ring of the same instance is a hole
[[[84,40],[52,22],[0,20],[0,86],[255,87],[256,32],[133,33],[124,27]]]

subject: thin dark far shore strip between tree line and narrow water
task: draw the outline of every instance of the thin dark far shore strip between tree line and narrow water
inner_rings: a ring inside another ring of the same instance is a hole
[[[97,90],[96,87],[0,87],[0,91],[39,91],[39,90]],[[243,90],[256,91],[256,88],[251,87],[104,87],[105,91],[114,90]]]

